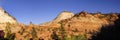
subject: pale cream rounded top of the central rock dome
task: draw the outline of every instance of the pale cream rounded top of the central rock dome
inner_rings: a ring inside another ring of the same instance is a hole
[[[68,11],[63,11],[53,20],[53,22],[60,22],[61,20],[68,19],[73,16],[74,16],[74,13],[68,12]]]

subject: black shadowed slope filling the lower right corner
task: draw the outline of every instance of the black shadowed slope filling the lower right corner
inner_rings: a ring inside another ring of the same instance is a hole
[[[114,25],[102,27],[100,32],[94,34],[91,40],[120,40],[120,15]]]

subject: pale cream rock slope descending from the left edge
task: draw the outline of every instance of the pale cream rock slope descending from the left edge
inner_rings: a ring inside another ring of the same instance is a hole
[[[9,15],[2,7],[0,7],[0,24],[3,23],[17,23],[16,19]]]

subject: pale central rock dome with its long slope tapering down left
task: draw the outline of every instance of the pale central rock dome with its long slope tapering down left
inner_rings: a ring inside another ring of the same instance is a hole
[[[40,25],[44,25],[44,26],[58,26],[58,22],[60,22],[61,20],[65,20],[65,19],[69,19],[71,17],[74,16],[74,13],[72,12],[68,12],[68,11],[63,11],[61,12],[55,19],[53,19],[50,22],[45,22],[42,23]]]

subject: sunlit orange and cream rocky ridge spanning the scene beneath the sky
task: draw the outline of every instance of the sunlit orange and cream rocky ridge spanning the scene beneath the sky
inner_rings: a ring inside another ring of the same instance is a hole
[[[0,29],[5,32],[5,38],[14,35],[14,40],[63,40],[74,37],[91,39],[93,34],[102,27],[114,25],[120,17],[116,13],[102,14],[82,11],[78,14],[63,11],[54,20],[42,25],[29,25],[17,23],[14,17],[9,16],[2,8],[0,10]],[[3,18],[4,17],[4,18]],[[9,19],[9,20],[8,20]],[[6,20],[3,22],[3,20]],[[7,21],[8,20],[8,21]],[[12,21],[11,21],[12,20]],[[10,23],[7,23],[10,22]],[[5,27],[3,25],[6,25]],[[77,39],[77,38],[76,38]],[[75,39],[73,39],[75,40]]]

